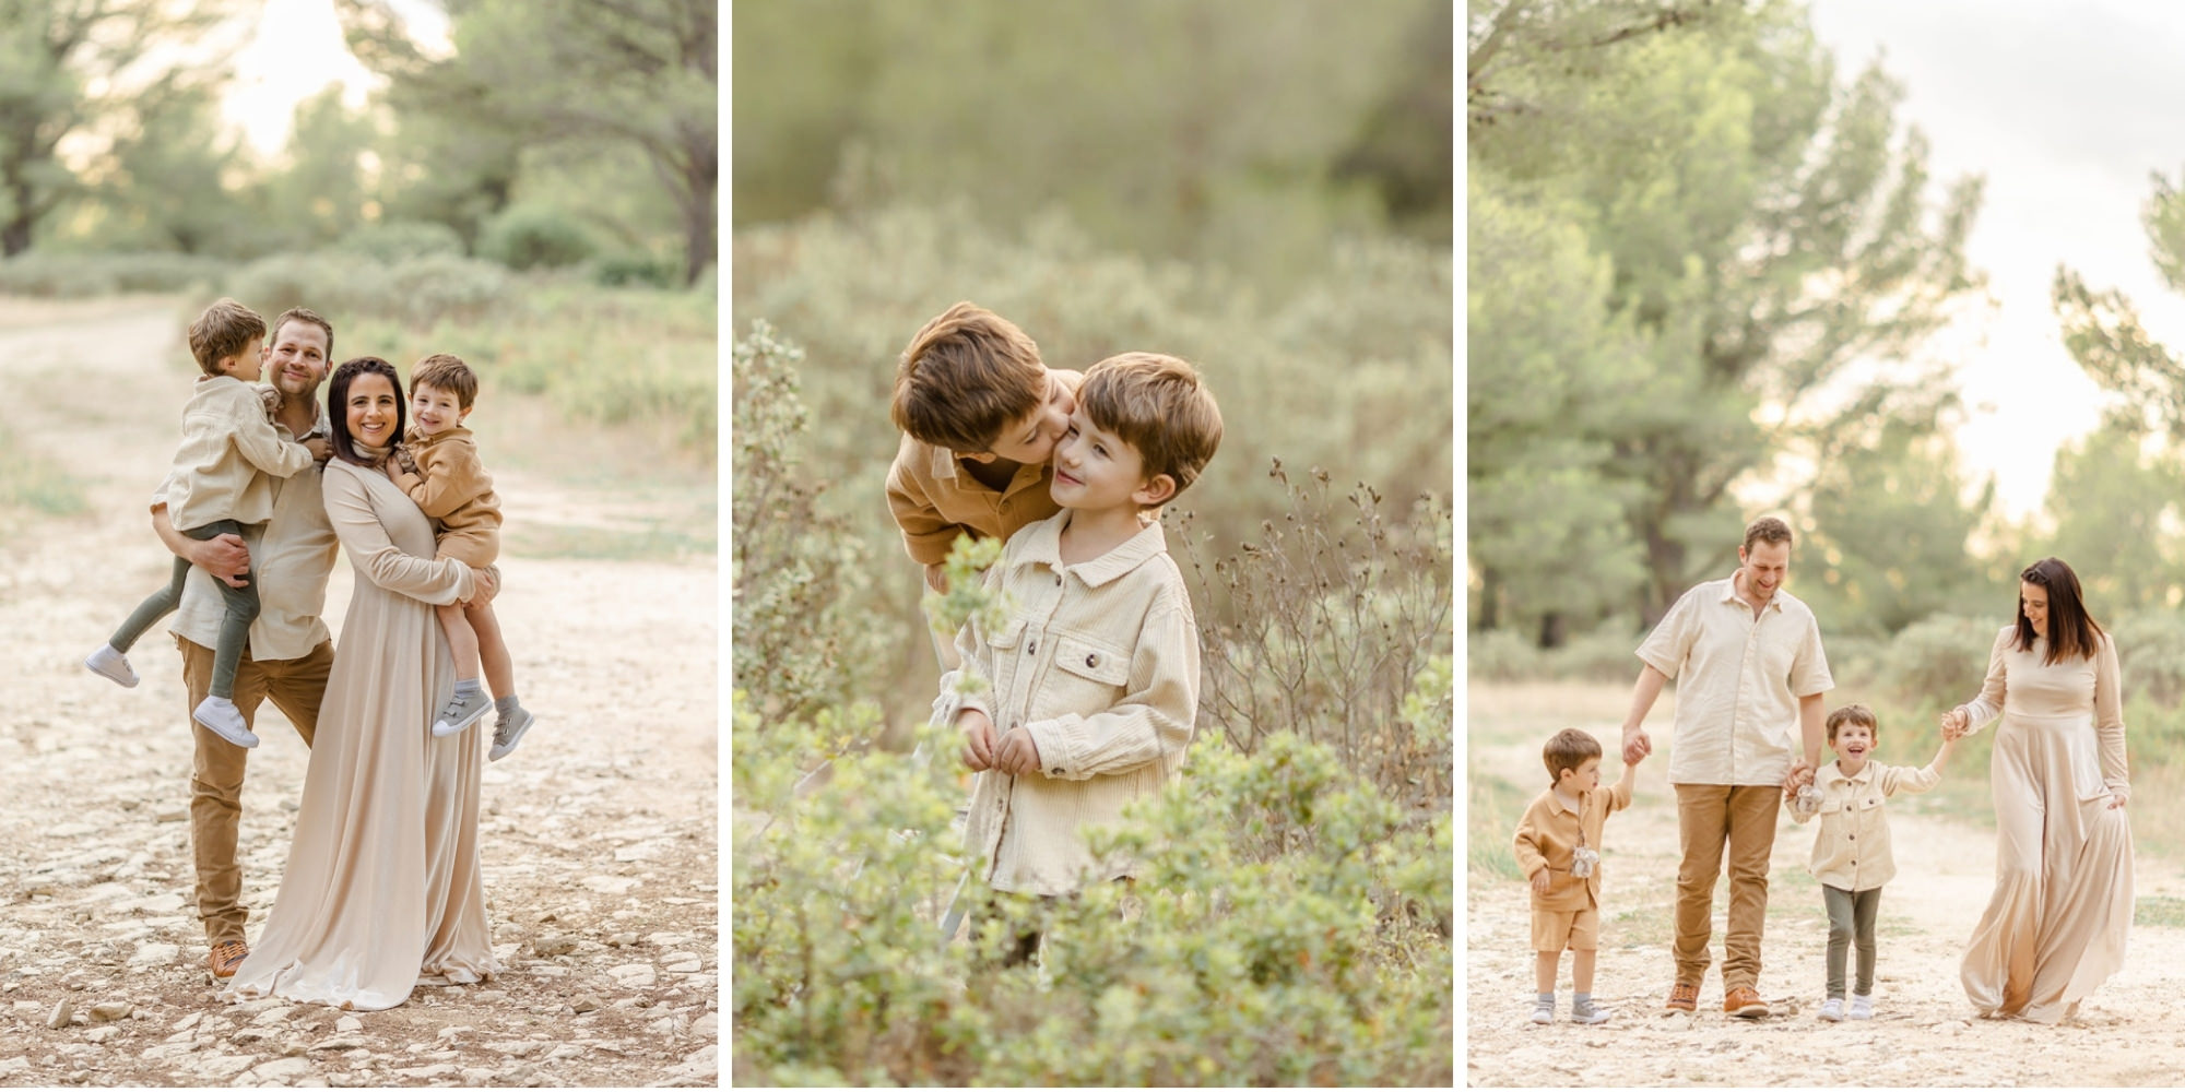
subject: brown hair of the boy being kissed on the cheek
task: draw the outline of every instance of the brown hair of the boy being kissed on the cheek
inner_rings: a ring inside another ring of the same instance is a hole
[[[1106,358],[1086,369],[1077,404],[1095,428],[1138,452],[1147,480],[1167,474],[1178,494],[1221,446],[1221,406],[1200,373],[1173,356],[1125,352]]]

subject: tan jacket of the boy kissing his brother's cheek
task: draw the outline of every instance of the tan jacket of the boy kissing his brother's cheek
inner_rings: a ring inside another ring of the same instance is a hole
[[[1084,373],[1049,371],[1077,393]],[[1007,539],[1023,526],[1062,511],[1047,494],[1055,472],[1051,463],[1020,465],[1003,489],[988,489],[948,448],[902,437],[896,461],[887,467],[887,511],[902,531],[902,548],[920,566],[948,559],[957,535],[975,539]]]

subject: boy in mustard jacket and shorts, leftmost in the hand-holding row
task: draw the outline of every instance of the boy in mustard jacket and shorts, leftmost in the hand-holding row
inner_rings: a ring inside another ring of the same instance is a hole
[[[1617,784],[1602,788],[1602,743],[1575,727],[1556,732],[1540,749],[1547,793],[1516,823],[1516,867],[1532,880],[1532,1022],[1556,1020],[1556,963],[1571,950],[1571,1022],[1599,1024],[1608,1009],[1593,1005],[1593,959],[1602,946],[1602,823],[1632,804],[1626,762]]]

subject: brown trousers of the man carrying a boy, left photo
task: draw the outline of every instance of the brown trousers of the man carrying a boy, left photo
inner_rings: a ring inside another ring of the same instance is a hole
[[[212,649],[175,638],[181,649],[181,681],[190,690],[190,710],[212,692]],[[258,703],[273,708],[295,725],[310,747],[319,729],[319,699],[334,668],[334,642],[297,660],[251,660],[245,651],[236,664],[236,708],[243,723],[258,716]],[[243,922],[251,911],[243,904],[243,867],[236,863],[236,830],[243,826],[243,771],[249,751],[190,721],[197,732],[197,756],[190,760],[190,850],[197,858],[197,915],[205,919],[205,943],[243,939]]]

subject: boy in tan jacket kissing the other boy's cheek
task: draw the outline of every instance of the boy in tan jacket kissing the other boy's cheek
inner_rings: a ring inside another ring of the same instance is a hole
[[[902,430],[887,467],[887,509],[902,548],[946,592],[957,535],[1007,539],[1062,511],[1049,456],[1084,376],[1049,371],[1014,323],[977,304],[935,314],[896,360],[889,417]],[[944,668],[953,653],[935,640]]]

